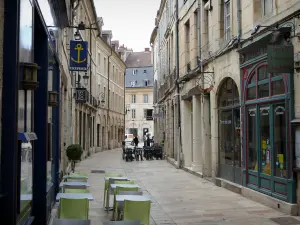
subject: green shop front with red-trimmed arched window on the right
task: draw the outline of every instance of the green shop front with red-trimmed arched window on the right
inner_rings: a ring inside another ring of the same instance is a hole
[[[272,38],[272,33],[267,34],[240,51],[243,182],[248,188],[294,203],[293,67],[286,66],[289,60],[293,65],[293,47],[284,38],[270,43]]]

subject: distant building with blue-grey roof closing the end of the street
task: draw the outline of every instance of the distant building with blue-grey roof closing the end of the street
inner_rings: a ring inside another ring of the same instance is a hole
[[[125,116],[126,133],[141,138],[153,134],[153,64],[149,48],[144,52],[132,52],[125,64]]]

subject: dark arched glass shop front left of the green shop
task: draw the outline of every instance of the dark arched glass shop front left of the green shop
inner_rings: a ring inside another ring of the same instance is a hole
[[[219,92],[219,176],[242,184],[240,99],[232,78],[225,78]]]

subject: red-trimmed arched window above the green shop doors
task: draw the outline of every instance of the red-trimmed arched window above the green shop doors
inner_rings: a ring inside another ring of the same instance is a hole
[[[250,75],[247,86],[246,100],[267,98],[286,93],[284,75],[270,74],[267,65],[257,67]]]

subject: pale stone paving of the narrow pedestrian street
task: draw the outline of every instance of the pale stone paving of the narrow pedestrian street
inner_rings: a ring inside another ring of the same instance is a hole
[[[104,174],[91,173],[91,170],[118,172],[135,180],[144,195],[152,199],[151,224],[278,225],[270,218],[285,216],[207,180],[175,169],[166,161],[124,162],[120,149],[94,154],[82,161],[76,170],[89,173],[90,189],[95,198],[90,203],[92,225],[110,220],[112,213],[103,210]]]

